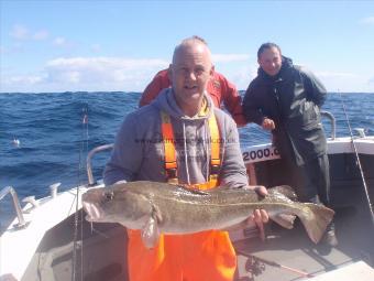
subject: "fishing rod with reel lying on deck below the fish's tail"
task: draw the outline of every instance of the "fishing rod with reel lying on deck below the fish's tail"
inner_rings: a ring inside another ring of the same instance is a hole
[[[300,277],[304,277],[304,278],[312,278],[314,277],[311,273],[305,272],[302,270],[299,270],[299,269],[296,269],[296,268],[292,268],[292,267],[287,267],[287,266],[280,264],[280,263],[272,261],[272,260],[266,260],[266,259],[263,259],[263,258],[258,258],[258,257],[256,257],[254,255],[246,253],[246,252],[244,252],[244,251],[242,251],[240,249],[235,249],[235,251],[237,251],[237,253],[242,255],[245,258],[252,260],[252,264],[249,264],[249,263],[245,264],[245,270],[249,271],[249,272],[253,272],[254,275],[257,275],[263,270],[265,270],[264,267],[261,267],[261,264],[260,264],[260,262],[262,262],[262,263],[271,266],[271,267],[275,267],[275,268],[279,268],[279,269],[284,269],[284,270],[294,272],[294,273],[296,273],[296,274],[298,274]]]

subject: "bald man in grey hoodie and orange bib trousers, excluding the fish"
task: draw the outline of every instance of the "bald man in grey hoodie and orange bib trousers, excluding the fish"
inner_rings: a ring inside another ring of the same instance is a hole
[[[168,72],[172,88],[125,118],[105,171],[106,185],[153,181],[195,190],[248,186],[237,125],[206,93],[213,73],[208,46],[197,37],[184,40]],[[266,195],[264,186],[257,190]],[[268,219],[263,209],[253,218]],[[161,235],[151,249],[142,235],[129,230],[131,281],[233,279],[237,257],[227,231]]]

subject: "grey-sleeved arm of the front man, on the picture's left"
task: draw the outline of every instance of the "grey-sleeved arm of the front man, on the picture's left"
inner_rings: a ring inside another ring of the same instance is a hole
[[[103,172],[105,184],[133,181],[141,165],[142,153],[142,144],[136,142],[136,118],[130,114],[116,137],[112,154]]]

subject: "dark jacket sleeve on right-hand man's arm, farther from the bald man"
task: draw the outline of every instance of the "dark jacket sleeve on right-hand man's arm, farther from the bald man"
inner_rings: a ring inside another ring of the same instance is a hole
[[[300,67],[300,73],[304,77],[305,86],[308,91],[308,98],[312,100],[318,107],[321,107],[327,98],[327,90],[323,84],[312,72],[305,67]]]

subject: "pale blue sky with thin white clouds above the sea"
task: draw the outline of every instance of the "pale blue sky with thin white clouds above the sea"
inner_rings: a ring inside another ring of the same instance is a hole
[[[275,42],[329,91],[374,93],[374,1],[0,0],[0,91],[142,91],[199,35],[239,89]]]

